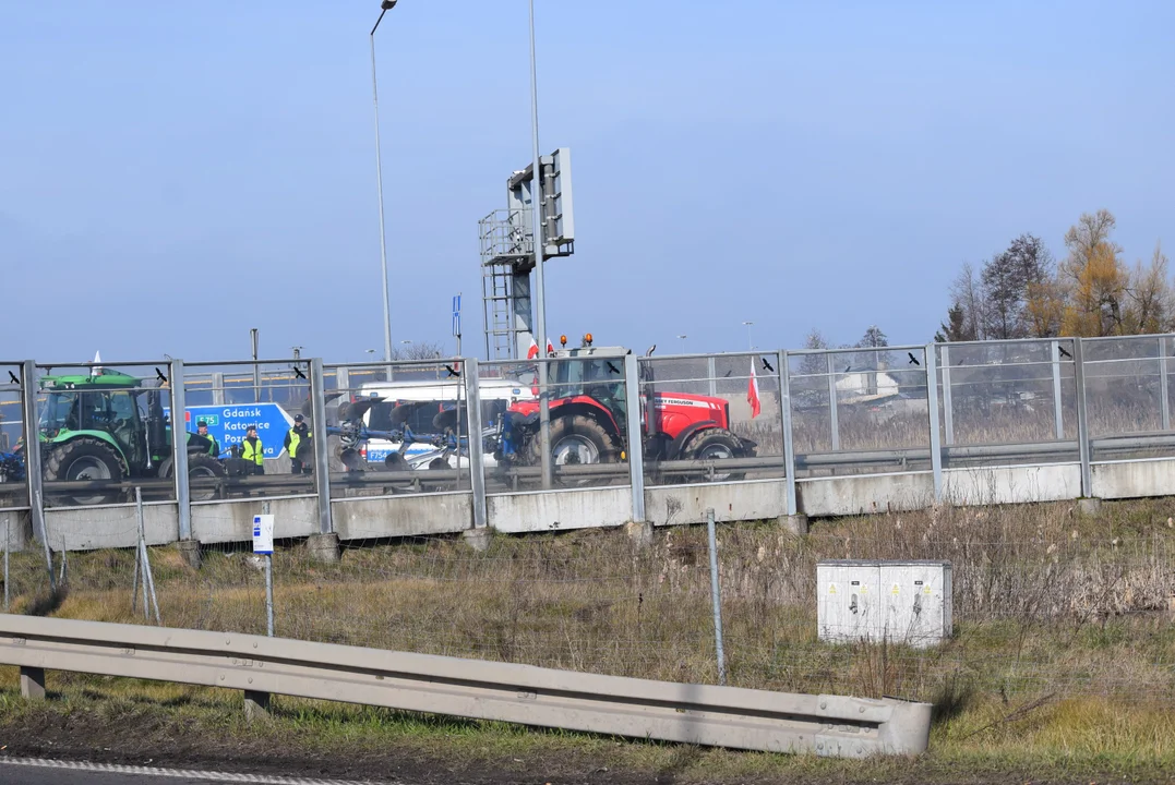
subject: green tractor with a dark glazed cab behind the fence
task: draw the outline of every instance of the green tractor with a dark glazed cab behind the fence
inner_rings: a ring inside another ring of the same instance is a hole
[[[47,392],[39,425],[47,481],[121,482],[174,474],[172,427],[163,414],[166,390],[143,387],[142,379],[99,368],[92,375],[42,377],[41,386]],[[208,440],[189,433],[187,445],[189,478],[224,476],[224,467],[208,454]],[[118,501],[121,494],[102,489],[53,498],[59,503],[101,505]],[[194,500],[214,494],[212,483],[192,489]]]

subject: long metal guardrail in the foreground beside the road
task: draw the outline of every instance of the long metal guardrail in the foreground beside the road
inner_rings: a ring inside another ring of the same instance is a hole
[[[221,686],[634,738],[830,757],[927,747],[931,704],[600,676],[329,643],[0,616],[26,695],[43,671]]]

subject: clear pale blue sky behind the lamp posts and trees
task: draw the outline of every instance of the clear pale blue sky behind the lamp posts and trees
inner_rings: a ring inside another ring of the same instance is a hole
[[[878,324],[1082,211],[1175,243],[1175,4],[537,0],[540,144],[575,160],[548,324],[738,350]],[[0,0],[9,359],[382,347],[375,0]],[[524,0],[377,33],[394,340],[482,347],[477,219],[530,158]],[[482,350],[484,351],[484,350]]]

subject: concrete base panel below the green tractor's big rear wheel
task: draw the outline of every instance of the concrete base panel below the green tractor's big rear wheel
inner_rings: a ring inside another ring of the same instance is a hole
[[[134,505],[46,509],[45,528],[53,550],[134,548],[139,542]],[[179,540],[180,515],[175,502],[143,505],[143,530],[147,544]]]

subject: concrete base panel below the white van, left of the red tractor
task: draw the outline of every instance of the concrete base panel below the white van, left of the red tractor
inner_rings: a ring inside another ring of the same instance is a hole
[[[430,493],[330,503],[340,540],[455,534],[474,526],[474,495]]]

